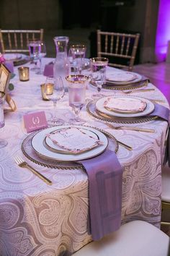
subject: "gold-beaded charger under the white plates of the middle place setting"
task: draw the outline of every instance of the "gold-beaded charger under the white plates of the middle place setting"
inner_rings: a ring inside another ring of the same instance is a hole
[[[101,111],[98,111],[96,107],[96,101],[90,101],[86,106],[86,110],[89,113],[89,115],[93,116],[95,119],[99,119],[101,121],[109,121],[117,124],[139,124],[139,123],[144,123],[146,121],[152,121],[158,118],[158,116],[130,117],[129,114],[128,114],[129,117],[112,116],[110,114],[105,114],[105,113],[102,113]]]

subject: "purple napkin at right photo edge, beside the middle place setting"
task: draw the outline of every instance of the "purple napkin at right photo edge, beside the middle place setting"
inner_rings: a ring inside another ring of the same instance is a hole
[[[154,105],[155,105],[154,111],[151,114],[148,114],[148,116],[158,116],[161,119],[168,121],[170,126],[169,108],[166,108],[156,103]],[[165,157],[164,157],[163,164],[165,165],[167,162],[169,163],[169,167],[170,167],[170,129],[169,129],[168,140],[166,142],[166,150],[165,150]]]

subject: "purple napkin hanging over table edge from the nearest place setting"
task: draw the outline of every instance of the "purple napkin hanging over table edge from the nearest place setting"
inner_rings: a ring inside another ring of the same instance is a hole
[[[79,163],[89,178],[90,233],[99,240],[121,225],[122,166],[111,150]]]

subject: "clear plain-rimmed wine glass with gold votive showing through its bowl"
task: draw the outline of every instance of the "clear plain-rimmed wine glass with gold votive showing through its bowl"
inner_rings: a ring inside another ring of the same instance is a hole
[[[49,101],[53,101],[54,107],[54,114],[51,120],[48,121],[48,124],[55,126],[55,125],[62,125],[64,123],[63,119],[58,119],[56,116],[56,105],[57,102],[63,98],[64,95],[64,87],[63,87],[63,80],[61,76],[52,77],[49,76],[46,78],[45,82],[45,96],[48,98]]]

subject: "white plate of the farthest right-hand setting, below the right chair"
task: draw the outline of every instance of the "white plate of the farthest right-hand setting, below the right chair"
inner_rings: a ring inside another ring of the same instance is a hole
[[[130,73],[130,75],[128,75],[127,77],[125,76],[126,73]],[[120,77],[120,74],[122,74],[122,77]],[[106,82],[112,83],[114,85],[128,85],[130,83],[134,83],[134,82],[140,82],[140,80],[142,80],[142,76],[138,73],[135,72],[108,72],[107,76],[106,76]],[[120,81],[118,80],[120,77]]]

